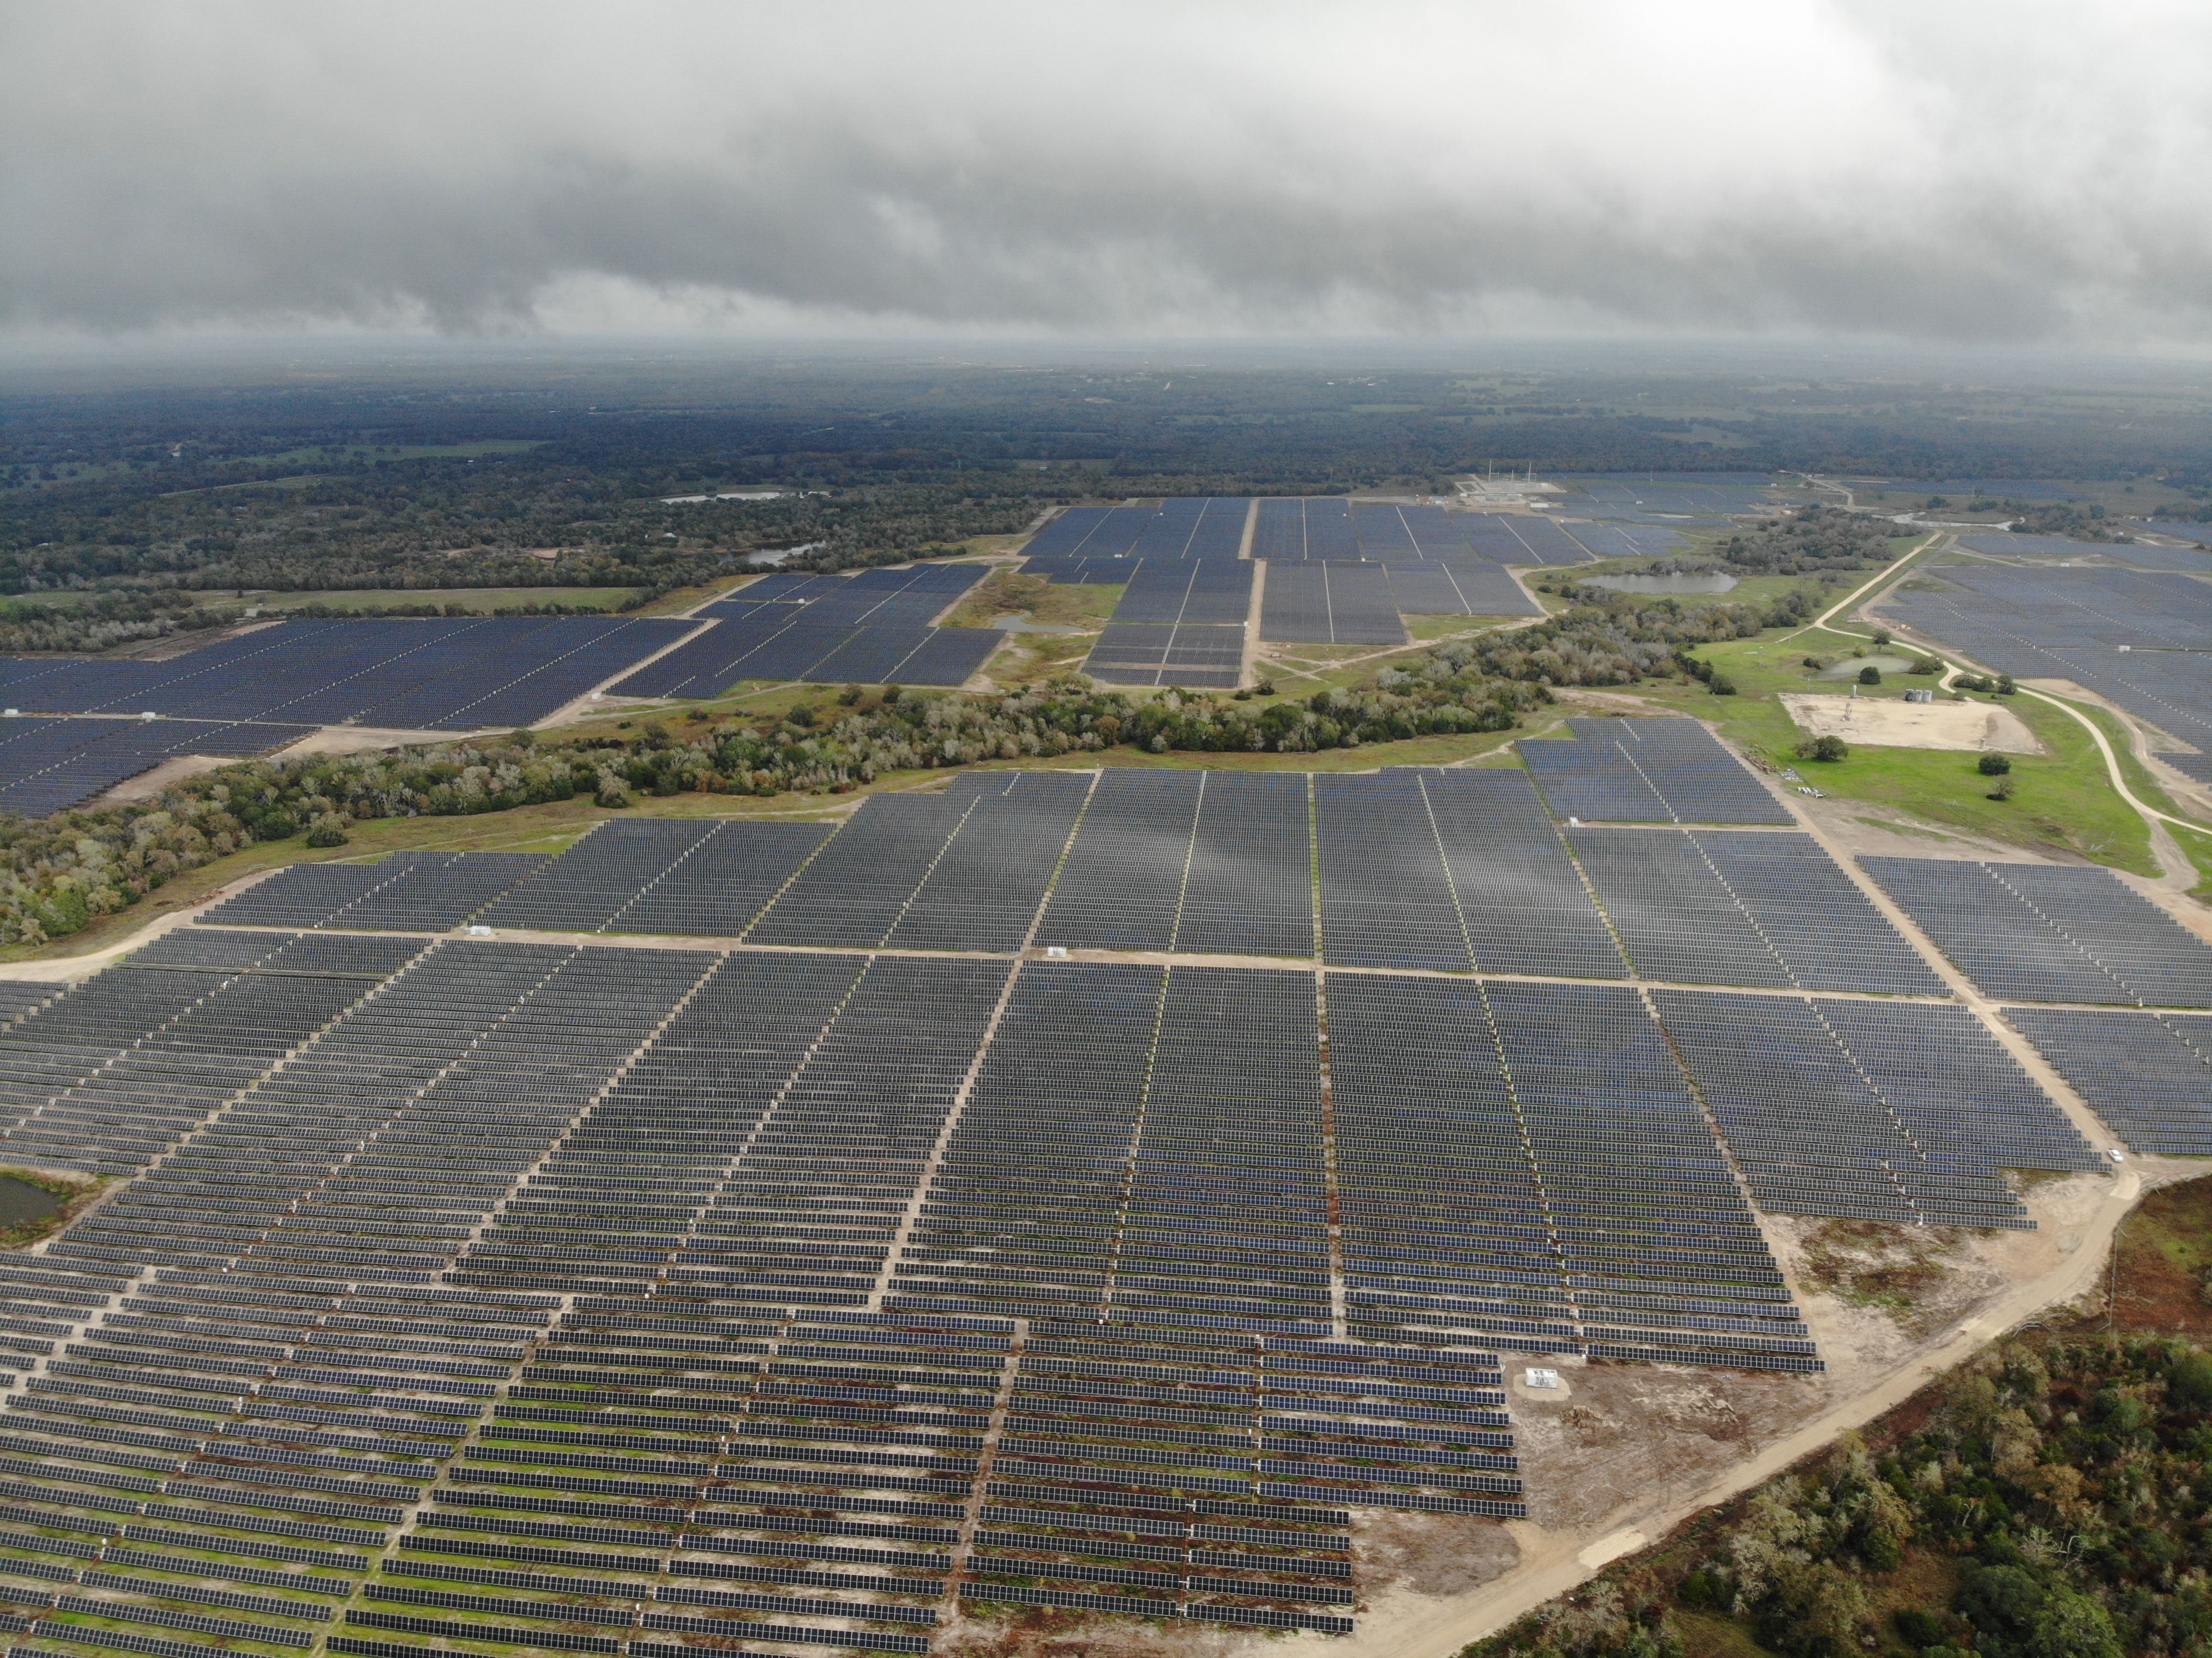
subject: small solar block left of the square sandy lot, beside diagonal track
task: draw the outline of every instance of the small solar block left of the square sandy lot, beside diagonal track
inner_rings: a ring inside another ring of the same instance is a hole
[[[1692,718],[1568,721],[1575,743],[1517,743],[1557,818],[1776,822],[1794,818]]]

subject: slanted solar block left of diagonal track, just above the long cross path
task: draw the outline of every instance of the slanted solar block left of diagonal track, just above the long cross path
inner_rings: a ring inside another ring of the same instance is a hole
[[[1568,840],[1646,979],[1949,995],[1812,836],[1571,829]]]

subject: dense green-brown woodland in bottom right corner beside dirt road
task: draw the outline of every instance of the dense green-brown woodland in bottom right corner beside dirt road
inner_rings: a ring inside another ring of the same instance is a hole
[[[2208,1457],[2212,1353],[2015,1337],[1871,1439],[1462,1658],[1683,1658],[1717,1649],[1714,1623],[1781,1658],[2201,1656]]]

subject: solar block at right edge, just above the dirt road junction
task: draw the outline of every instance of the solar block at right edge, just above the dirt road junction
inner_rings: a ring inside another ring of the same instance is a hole
[[[2137,1152],[2212,1156],[2212,1019],[2104,1008],[2004,1017]]]

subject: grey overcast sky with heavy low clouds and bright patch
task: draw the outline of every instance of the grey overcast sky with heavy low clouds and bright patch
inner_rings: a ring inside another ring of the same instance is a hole
[[[2212,345],[2208,0],[0,0],[0,329]]]

